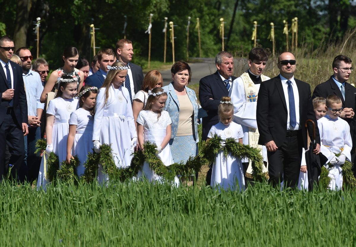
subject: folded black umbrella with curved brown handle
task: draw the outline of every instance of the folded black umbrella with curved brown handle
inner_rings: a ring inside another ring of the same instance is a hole
[[[321,166],[328,161],[328,158],[321,153],[319,155],[313,153],[313,150],[316,148],[315,123],[313,120],[308,119],[305,121],[305,127],[308,127],[308,122],[313,124],[313,140],[310,140],[309,150],[305,152],[305,160],[307,162],[309,190],[313,190],[314,183],[318,183]]]

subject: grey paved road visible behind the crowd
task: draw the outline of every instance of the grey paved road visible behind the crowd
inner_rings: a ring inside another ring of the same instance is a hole
[[[201,62],[190,63],[189,66],[192,69],[192,79],[190,84],[199,83],[200,79],[206,75],[215,73],[215,58],[198,58]],[[166,86],[172,81],[171,70],[160,71],[163,77],[163,85]]]

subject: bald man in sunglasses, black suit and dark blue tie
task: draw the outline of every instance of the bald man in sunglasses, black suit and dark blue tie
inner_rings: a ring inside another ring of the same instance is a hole
[[[259,145],[265,145],[268,157],[269,183],[280,188],[280,182],[295,188],[298,184],[302,148],[307,149],[305,121],[316,122],[310,86],[294,78],[295,57],[283,52],[278,57],[279,75],[261,84],[257,101]],[[316,149],[320,152],[316,126]],[[310,128],[309,133],[313,133]]]

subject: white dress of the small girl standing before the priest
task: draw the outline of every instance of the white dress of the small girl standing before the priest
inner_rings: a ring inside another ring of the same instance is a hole
[[[221,122],[215,124],[211,127],[208,138],[212,138],[214,134],[219,135],[224,141],[226,138],[235,138],[238,141],[239,138],[244,136],[241,125],[234,122],[227,126]],[[241,160],[231,156],[231,153],[225,157],[223,150],[220,150],[215,158],[210,185],[225,190],[244,190],[245,179]]]

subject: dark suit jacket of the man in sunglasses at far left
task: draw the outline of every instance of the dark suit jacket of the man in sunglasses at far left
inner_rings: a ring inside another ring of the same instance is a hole
[[[12,68],[12,72],[14,74],[14,112],[16,119],[14,122],[17,124],[19,128],[22,129],[22,123],[27,123],[27,100],[25,88],[23,86],[23,78],[22,78],[22,68],[20,65],[10,61],[10,65]],[[7,107],[9,105],[9,101],[2,100],[2,93],[5,92],[9,87],[7,86],[7,80],[5,72],[2,68],[0,68],[0,125],[4,120]]]

